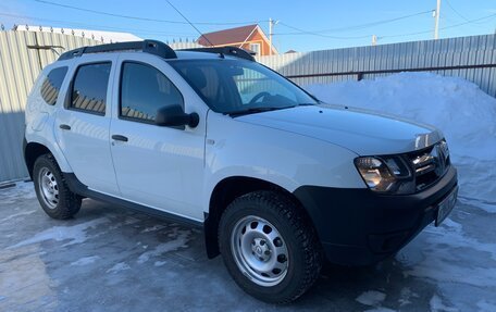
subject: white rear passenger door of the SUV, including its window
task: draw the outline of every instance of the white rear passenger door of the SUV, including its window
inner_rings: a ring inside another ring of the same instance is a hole
[[[54,132],[76,177],[90,189],[120,195],[110,152],[110,103],[116,57],[84,55],[70,73],[64,108],[57,114]]]

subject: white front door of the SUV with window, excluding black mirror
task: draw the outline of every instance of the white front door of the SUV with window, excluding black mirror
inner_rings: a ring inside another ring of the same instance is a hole
[[[122,197],[202,222],[207,107],[160,58],[123,53],[117,68],[111,150]],[[157,126],[157,110],[173,104],[198,113],[198,126]]]

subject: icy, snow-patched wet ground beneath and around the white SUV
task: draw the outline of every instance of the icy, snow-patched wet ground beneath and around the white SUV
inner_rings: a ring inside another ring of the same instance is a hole
[[[395,259],[328,266],[292,305],[243,292],[200,230],[85,200],[49,219],[32,183],[0,189],[0,311],[496,311],[496,213],[458,202]]]

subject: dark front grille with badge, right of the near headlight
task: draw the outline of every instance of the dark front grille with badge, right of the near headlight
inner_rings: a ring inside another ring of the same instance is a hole
[[[445,141],[427,149],[408,154],[411,170],[416,177],[417,191],[436,183],[450,165],[449,150]]]

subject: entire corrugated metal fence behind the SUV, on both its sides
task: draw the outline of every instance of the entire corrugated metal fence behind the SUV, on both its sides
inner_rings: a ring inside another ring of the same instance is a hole
[[[40,68],[57,53],[99,41],[72,35],[0,32],[0,182],[27,176],[22,155],[24,105]],[[178,42],[174,48],[191,48]],[[61,48],[49,48],[61,47]],[[195,46],[196,47],[196,46]],[[496,97],[496,35],[257,58],[299,85],[426,71],[459,76]]]

